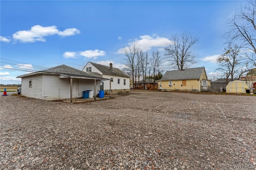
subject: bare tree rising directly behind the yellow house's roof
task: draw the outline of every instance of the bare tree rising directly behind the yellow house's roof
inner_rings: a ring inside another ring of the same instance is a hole
[[[196,54],[191,51],[192,46],[198,42],[198,38],[191,34],[175,34],[171,43],[165,48],[166,59],[174,69],[185,69],[196,63]]]

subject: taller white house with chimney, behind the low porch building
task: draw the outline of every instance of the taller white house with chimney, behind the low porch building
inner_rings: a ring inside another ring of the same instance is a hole
[[[112,93],[128,92],[130,90],[130,78],[123,71],[114,68],[112,63],[109,67],[97,63],[88,62],[82,71],[88,71],[102,75],[103,78],[110,80],[103,80],[103,89],[105,93],[110,93],[110,85]]]

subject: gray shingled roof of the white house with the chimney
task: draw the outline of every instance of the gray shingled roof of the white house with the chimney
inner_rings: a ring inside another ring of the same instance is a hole
[[[97,64],[97,63],[92,63],[92,62],[90,62],[90,63],[94,67],[96,67],[96,69],[98,69],[100,72],[102,72],[102,74],[116,75],[116,76],[120,76],[120,77],[129,77],[128,75],[126,75],[124,72],[122,72],[118,68],[113,67],[113,70],[110,70],[109,66],[101,65],[101,64]]]

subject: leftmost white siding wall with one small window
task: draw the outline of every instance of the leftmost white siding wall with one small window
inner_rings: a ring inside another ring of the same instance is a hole
[[[32,87],[29,87],[30,80],[32,80]],[[21,83],[23,96],[42,99],[42,75],[22,78]]]

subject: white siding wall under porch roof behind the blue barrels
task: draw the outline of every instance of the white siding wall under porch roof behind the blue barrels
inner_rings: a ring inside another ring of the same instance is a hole
[[[100,81],[96,80],[96,95],[100,90]],[[94,91],[94,80],[92,79],[78,79],[78,97],[83,97],[83,93],[86,90]],[[93,92],[94,95],[94,92]]]

